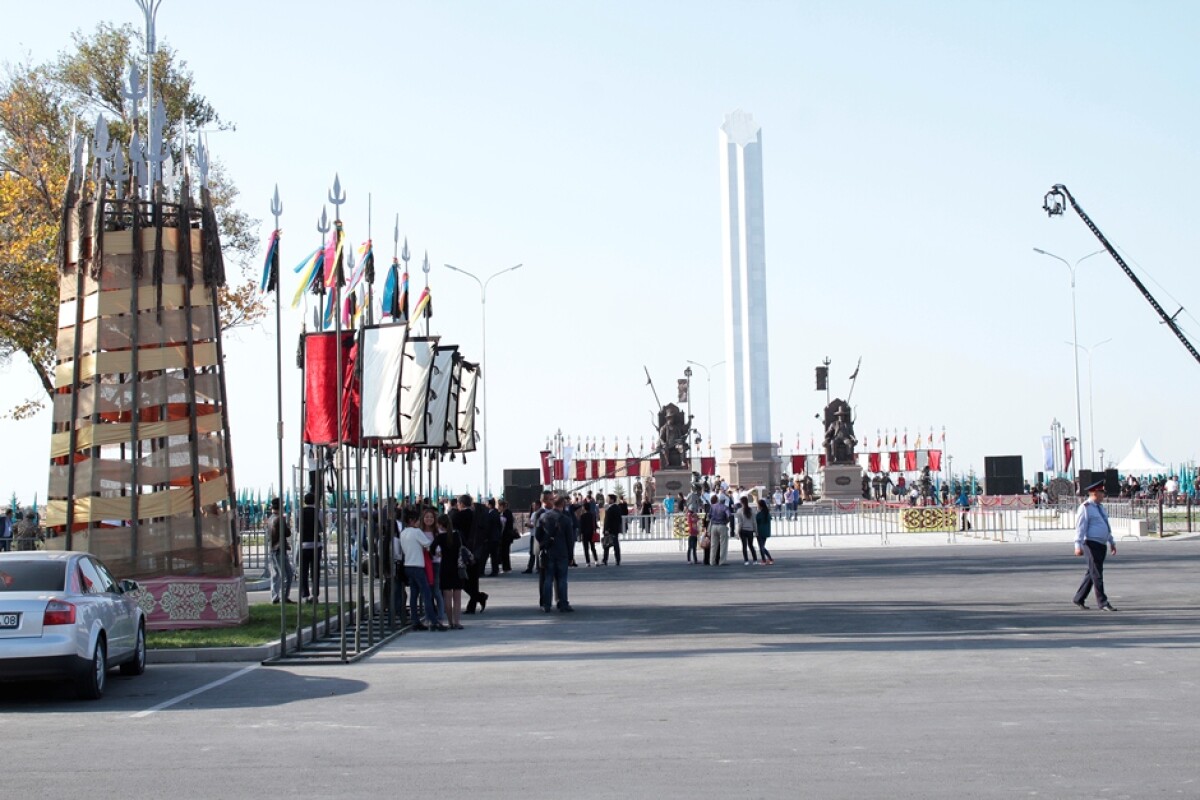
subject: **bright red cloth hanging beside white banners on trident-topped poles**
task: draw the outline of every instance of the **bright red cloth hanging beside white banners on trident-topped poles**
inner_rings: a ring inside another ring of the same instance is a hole
[[[342,333],[342,380],[337,380],[337,333],[308,333],[304,337],[306,444],[338,443],[337,391],[342,390],[341,440],[359,445],[359,380],[354,369],[358,347],[353,332]]]

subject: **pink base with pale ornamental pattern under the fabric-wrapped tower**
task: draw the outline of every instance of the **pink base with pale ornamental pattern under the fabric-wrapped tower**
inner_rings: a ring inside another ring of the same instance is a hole
[[[250,619],[246,578],[166,576],[138,581],[138,604],[150,631],[233,627]]]

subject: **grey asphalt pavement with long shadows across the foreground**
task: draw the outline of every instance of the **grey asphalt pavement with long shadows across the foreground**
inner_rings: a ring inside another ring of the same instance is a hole
[[[630,555],[359,663],[0,687],[5,796],[1200,795],[1200,541]],[[224,682],[191,697],[188,692]]]

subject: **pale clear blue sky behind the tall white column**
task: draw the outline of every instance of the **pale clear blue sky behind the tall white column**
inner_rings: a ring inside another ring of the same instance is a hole
[[[19,4],[0,56],[48,59],[76,29],[138,16],[132,0]],[[335,172],[356,241],[370,192],[389,255],[398,213],[418,259],[524,264],[488,291],[493,487],[559,428],[636,447],[653,433],[643,365],[666,395],[688,360],[724,357],[718,126],[734,108],[763,128],[785,450],[817,432],[824,356],[841,395],[863,356],[860,435],[944,426],[956,470],[1016,453],[1032,474],[1052,419],[1074,434],[1067,270],[1032,248],[1074,261],[1098,243],[1073,215],[1045,217],[1056,182],[1200,341],[1189,4],[166,0],[158,34],[236,124],[210,144],[264,237],[280,185],[284,264],[316,246]],[[474,283],[436,266],[431,285],[434,332],[478,355]],[[1112,338],[1093,360],[1096,445],[1120,458],[1140,435],[1159,459],[1195,458],[1200,365],[1106,255],[1080,267],[1078,301],[1080,343]],[[286,327],[288,363],[298,313]],[[227,344],[238,479],[263,488],[271,330]],[[1091,450],[1086,357],[1080,377]],[[287,381],[295,399],[299,373]],[[0,403],[35,391],[18,360],[0,373]],[[719,444],[724,397],[718,367]],[[695,399],[703,426],[702,380]],[[49,429],[46,414],[0,422],[22,453],[0,493],[44,495],[26,462],[47,458]],[[480,459],[444,474],[475,488]]]

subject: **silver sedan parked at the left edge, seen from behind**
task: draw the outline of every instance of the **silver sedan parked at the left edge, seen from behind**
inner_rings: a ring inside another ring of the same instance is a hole
[[[90,553],[0,553],[0,680],[68,679],[97,699],[110,668],[140,675],[146,626],[137,591]]]

